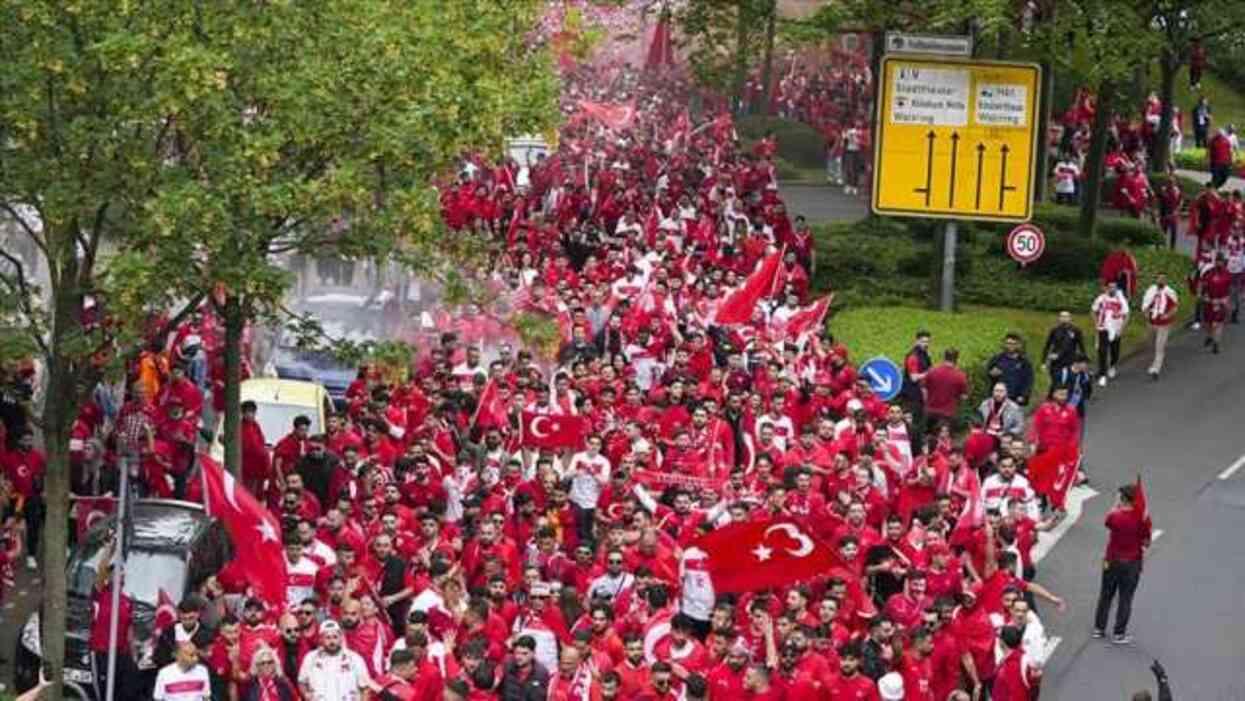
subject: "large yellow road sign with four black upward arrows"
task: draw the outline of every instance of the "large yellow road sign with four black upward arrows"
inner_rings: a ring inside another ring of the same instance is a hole
[[[883,57],[873,210],[1028,219],[1040,93],[1035,64]]]

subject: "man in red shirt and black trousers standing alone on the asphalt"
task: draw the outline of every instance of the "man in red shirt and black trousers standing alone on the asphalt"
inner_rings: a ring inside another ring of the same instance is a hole
[[[1093,637],[1103,637],[1107,631],[1107,619],[1111,616],[1111,604],[1119,595],[1116,609],[1116,629],[1111,641],[1128,645],[1133,641],[1128,635],[1128,618],[1133,613],[1133,594],[1142,579],[1142,560],[1145,549],[1150,547],[1150,519],[1137,504],[1137,486],[1125,484],[1119,488],[1119,497],[1107,514],[1107,554],[1103,558],[1102,589],[1098,594],[1098,610],[1094,614]]]

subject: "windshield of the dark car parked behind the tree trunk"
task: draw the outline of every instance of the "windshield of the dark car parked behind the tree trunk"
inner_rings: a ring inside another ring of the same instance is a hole
[[[107,537],[103,533],[96,535],[75,550],[68,565],[68,590],[85,599],[91,598],[96,572],[105,554]],[[126,595],[154,606],[161,589],[174,601],[182,596],[186,591],[186,563],[174,553],[131,549],[126,558]]]

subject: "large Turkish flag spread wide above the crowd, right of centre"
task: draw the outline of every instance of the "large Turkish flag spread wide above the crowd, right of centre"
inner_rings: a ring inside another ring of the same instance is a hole
[[[825,574],[834,550],[789,518],[732,523],[695,540],[708,557],[713,591],[741,593],[783,586]]]

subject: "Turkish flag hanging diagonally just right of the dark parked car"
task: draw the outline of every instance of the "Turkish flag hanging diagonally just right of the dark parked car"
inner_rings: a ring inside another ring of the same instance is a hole
[[[200,454],[199,468],[208,486],[208,513],[229,532],[238,569],[256,596],[284,609],[286,570],[280,522],[217,461]]]

